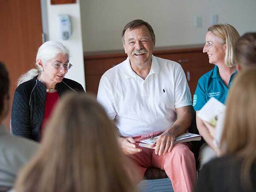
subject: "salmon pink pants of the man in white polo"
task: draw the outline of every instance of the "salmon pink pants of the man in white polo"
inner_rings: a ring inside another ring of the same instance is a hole
[[[149,136],[152,136],[152,134],[133,138],[139,142],[139,140]],[[142,149],[142,152],[129,155],[129,157],[137,164],[141,179],[143,179],[146,169],[151,167],[160,168],[165,170],[175,192],[193,192],[196,182],[195,157],[190,151],[188,143],[175,144],[172,151],[164,156],[156,155],[154,149],[140,147],[139,145],[138,147]]]

